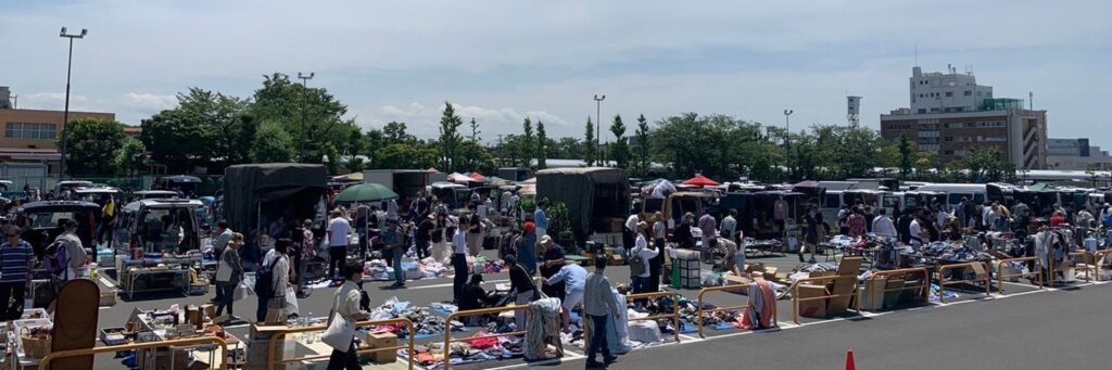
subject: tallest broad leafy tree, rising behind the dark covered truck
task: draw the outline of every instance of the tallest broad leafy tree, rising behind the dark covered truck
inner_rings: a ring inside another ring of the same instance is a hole
[[[257,121],[286,130],[301,162],[319,163],[329,144],[335,149],[347,140],[346,136],[337,134],[346,132],[340,129],[355,126],[353,120],[344,119],[347,106],[328,90],[294,83],[282,73],[264,78],[262,88],[255,91],[250,111]]]

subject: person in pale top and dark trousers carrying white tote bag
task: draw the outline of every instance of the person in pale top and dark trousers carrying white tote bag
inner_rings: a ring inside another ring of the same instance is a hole
[[[344,264],[344,283],[336,289],[332,296],[332,310],[328,313],[330,328],[332,320],[344,320],[348,326],[355,326],[356,321],[366,320],[370,313],[359,308],[363,294],[359,291],[359,283],[363,282],[363,263],[351,261]],[[328,357],[328,370],[359,370],[359,356],[356,352],[356,340],[353,336],[348,338],[348,347],[340,349],[332,347],[332,353]]]

